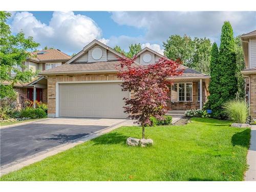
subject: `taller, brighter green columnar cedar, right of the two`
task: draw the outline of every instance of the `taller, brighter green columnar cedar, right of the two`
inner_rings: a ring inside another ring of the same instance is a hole
[[[220,107],[231,99],[236,98],[238,91],[236,52],[233,29],[229,22],[224,22],[221,31],[219,53],[220,65]],[[217,118],[225,118],[223,110],[216,112]]]

